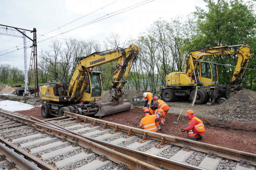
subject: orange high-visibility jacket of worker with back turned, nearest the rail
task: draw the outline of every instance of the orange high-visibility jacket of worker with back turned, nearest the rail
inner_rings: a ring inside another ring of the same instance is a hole
[[[149,115],[146,114],[144,118],[141,119],[139,128],[143,127],[145,130],[149,131],[157,131],[155,120],[157,119],[157,115]]]

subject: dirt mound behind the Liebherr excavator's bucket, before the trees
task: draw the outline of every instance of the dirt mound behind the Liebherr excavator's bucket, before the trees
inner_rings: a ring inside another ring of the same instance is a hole
[[[122,90],[124,95],[121,97],[122,100],[127,99],[132,104],[132,97],[142,95],[143,92],[139,90]],[[112,96],[109,93],[110,91],[103,92],[100,103],[109,102],[112,99]]]

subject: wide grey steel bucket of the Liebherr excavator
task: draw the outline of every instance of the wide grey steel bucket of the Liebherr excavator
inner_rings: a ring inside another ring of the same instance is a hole
[[[131,103],[127,99],[99,104],[99,111],[95,116],[106,116],[131,109]]]

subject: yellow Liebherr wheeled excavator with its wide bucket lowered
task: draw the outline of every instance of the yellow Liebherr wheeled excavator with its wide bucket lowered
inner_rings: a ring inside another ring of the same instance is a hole
[[[63,116],[64,111],[82,115],[105,116],[131,108],[128,100],[120,100],[127,83],[126,77],[132,62],[137,59],[139,47],[131,44],[128,48],[117,48],[103,52],[94,52],[86,57],[76,58],[70,81],[45,83],[41,88],[41,99],[46,100],[41,106],[42,117]],[[101,72],[94,67],[118,60],[111,82],[112,100],[97,104],[102,96]],[[123,73],[124,79],[121,80]]]

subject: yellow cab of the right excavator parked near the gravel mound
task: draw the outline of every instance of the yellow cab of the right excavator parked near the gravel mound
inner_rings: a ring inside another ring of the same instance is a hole
[[[218,70],[215,63],[199,62],[195,71],[196,82],[202,86],[211,86],[218,83]]]

